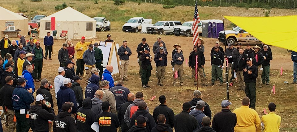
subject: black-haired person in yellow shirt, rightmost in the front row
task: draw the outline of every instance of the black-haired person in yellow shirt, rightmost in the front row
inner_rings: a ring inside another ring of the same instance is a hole
[[[275,114],[276,105],[274,103],[270,103],[268,105],[269,114],[263,115],[261,122],[262,126],[264,126],[263,132],[279,132],[279,127],[281,126],[281,116]]]

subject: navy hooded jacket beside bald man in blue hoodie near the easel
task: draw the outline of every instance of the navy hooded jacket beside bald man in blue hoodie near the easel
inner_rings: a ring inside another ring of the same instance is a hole
[[[89,79],[90,84],[88,84],[86,87],[84,97],[90,97],[91,99],[94,98],[95,92],[99,89],[99,87],[96,85],[99,80],[99,76],[91,76],[91,78]]]

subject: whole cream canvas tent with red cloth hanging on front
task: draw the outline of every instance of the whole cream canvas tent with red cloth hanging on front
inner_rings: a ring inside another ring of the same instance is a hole
[[[40,20],[40,37],[46,36],[51,32],[51,18],[55,17],[55,30],[58,31],[58,38],[62,30],[68,31],[67,36],[70,39],[80,39],[85,36],[86,39],[96,37],[96,20],[85,14],[67,7],[54,14],[51,14]]]

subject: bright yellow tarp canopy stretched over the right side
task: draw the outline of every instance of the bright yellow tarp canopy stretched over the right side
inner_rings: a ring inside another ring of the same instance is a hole
[[[297,15],[278,17],[224,17],[265,44],[297,52]]]

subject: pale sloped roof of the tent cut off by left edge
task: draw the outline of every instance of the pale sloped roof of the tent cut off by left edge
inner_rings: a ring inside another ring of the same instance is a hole
[[[25,18],[19,14],[16,14],[10,10],[7,10],[0,6],[0,20],[28,20],[28,18]]]

